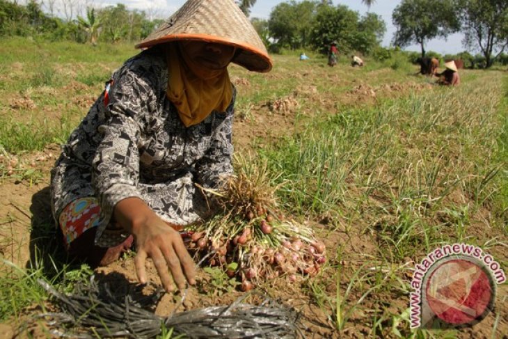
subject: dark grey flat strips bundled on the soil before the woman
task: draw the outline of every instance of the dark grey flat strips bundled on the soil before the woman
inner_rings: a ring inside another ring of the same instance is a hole
[[[168,317],[152,311],[164,290],[157,287],[150,295],[131,289],[115,295],[108,283],[77,285],[74,292],[58,292],[45,281],[59,313],[40,315],[52,334],[68,338],[156,338],[163,329],[172,329],[172,338],[303,338],[299,313],[272,299],[259,305],[245,303],[245,294],[228,306],[187,310]],[[186,292],[182,296],[183,303]],[[180,306],[179,305],[179,306]],[[178,308],[178,307],[177,307]],[[176,311],[177,309],[175,309]]]

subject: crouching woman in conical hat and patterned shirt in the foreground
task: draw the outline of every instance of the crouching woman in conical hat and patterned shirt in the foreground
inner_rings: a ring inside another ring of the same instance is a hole
[[[214,212],[196,184],[232,175],[227,66],[269,72],[272,61],[232,0],[186,1],[136,47],[63,145],[51,210],[72,257],[108,265],[134,242],[139,281],[150,257],[173,290],[195,283],[178,230]]]

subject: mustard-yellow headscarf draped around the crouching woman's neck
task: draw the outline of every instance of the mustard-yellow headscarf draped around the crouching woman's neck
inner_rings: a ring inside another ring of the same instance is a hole
[[[166,94],[185,127],[197,125],[214,110],[223,112],[228,108],[232,84],[227,68],[210,70],[193,63],[177,44],[170,44],[166,55],[169,73]]]

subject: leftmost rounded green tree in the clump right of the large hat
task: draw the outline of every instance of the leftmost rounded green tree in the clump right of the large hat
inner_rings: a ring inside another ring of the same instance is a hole
[[[314,1],[289,1],[273,8],[268,20],[271,36],[280,47],[292,49],[305,47],[310,42],[313,17],[317,3]]]

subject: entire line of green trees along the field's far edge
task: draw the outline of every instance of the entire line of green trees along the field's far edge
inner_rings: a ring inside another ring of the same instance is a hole
[[[162,19],[155,13],[116,6],[89,6],[93,0],[0,0],[0,36],[38,35],[51,40],[77,42],[134,42],[148,36]],[[60,15],[55,15],[59,1]],[[81,2],[80,2],[81,1]],[[85,2],[83,2],[85,1]],[[235,0],[249,15],[256,0]],[[341,52],[379,53],[386,22],[370,8],[375,0],[362,0],[365,15],[331,0],[289,0],[274,6],[269,19],[251,18],[271,52],[312,49],[326,53],[336,41]],[[44,5],[44,6],[43,6]],[[78,5],[81,5],[81,10]],[[84,8],[83,8],[84,7]],[[392,13],[397,31],[395,47],[420,45],[421,55],[432,38],[463,33],[463,46],[479,51],[485,67],[504,58],[508,46],[508,0],[402,0]]]

